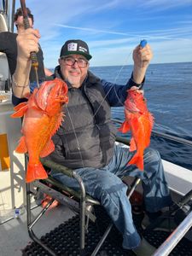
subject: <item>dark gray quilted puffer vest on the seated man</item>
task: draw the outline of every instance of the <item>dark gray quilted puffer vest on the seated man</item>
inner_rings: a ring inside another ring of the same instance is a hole
[[[53,137],[55,152],[49,159],[73,169],[107,165],[117,129],[101,79],[89,72],[80,88],[68,84],[68,97],[64,121]]]

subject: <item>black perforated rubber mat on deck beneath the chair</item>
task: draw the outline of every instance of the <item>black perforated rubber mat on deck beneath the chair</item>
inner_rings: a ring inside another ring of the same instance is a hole
[[[85,251],[84,256],[90,256],[96,247],[97,242],[102,237],[103,232],[110,224],[110,218],[102,207],[95,207],[96,212],[96,223],[93,224],[90,221],[89,232],[85,237]],[[141,221],[143,215],[133,215],[134,223],[140,234],[143,233],[141,228]],[[146,232],[145,232],[146,233]],[[164,231],[150,231],[149,234],[143,233],[143,236],[152,244],[154,247],[159,247],[160,244],[166,240],[169,236]],[[36,234],[38,236],[38,234]],[[51,230],[45,236],[41,237],[41,241],[48,245],[56,255],[58,256],[79,256],[79,216],[75,216],[67,220],[67,222],[60,224],[55,230]],[[125,252],[122,247],[122,236],[119,231],[113,229],[108,235],[108,238],[103,243],[97,256],[132,256],[133,253]],[[36,242],[32,242],[23,249],[23,256],[49,256],[44,248],[40,247]],[[172,251],[170,255],[177,256],[188,256],[192,255],[191,244],[189,241],[183,239],[179,242],[177,247]]]

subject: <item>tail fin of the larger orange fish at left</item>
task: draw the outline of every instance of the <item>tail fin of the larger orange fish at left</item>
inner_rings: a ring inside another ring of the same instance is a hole
[[[29,161],[26,171],[26,183],[31,183],[36,179],[44,179],[47,177],[47,172],[44,170],[44,166],[41,162],[38,164],[31,164]]]

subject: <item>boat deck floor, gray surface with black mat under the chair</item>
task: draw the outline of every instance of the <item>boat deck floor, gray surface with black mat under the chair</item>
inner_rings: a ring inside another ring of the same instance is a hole
[[[32,214],[36,216],[41,211],[41,207],[34,207]],[[96,242],[102,236],[102,233],[108,226],[110,219],[101,207],[96,207],[96,224],[90,222],[89,233],[86,237],[85,254],[90,256]],[[165,231],[145,232],[141,228],[141,220],[143,215],[134,215],[134,222],[137,230],[154,246],[160,247],[160,244],[166,240],[170,233]],[[35,234],[41,237],[42,241],[49,244],[56,255],[78,256],[79,255],[79,216],[75,215],[67,207],[59,206],[45,212],[39,224],[33,228]],[[1,256],[9,255],[27,255],[27,256],[43,256],[49,255],[42,247],[33,242],[28,236],[26,229],[26,213],[20,215],[20,218],[13,218],[8,222],[0,225],[1,239]],[[132,253],[125,253],[121,248],[122,237],[119,232],[113,228],[102,245],[98,256],[125,256]],[[189,256],[192,255],[191,241],[183,238],[170,253],[171,256]]]

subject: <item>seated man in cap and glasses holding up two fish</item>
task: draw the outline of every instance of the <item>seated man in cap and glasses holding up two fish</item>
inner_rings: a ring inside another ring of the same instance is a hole
[[[38,31],[28,29],[19,34],[17,67],[15,70],[15,97],[23,98],[30,91],[28,74],[31,51],[38,51]],[[30,43],[30,44],[29,44]],[[29,45],[29,47],[27,47]],[[143,197],[149,217],[159,214],[161,208],[171,203],[164,177],[160,154],[152,148],[144,152],[145,171],[136,166],[126,166],[134,153],[128,148],[114,145],[116,128],[111,122],[110,107],[122,106],[126,90],[141,88],[152,52],[147,44],[133,51],[134,68],[128,83],[112,84],[96,78],[89,71],[91,59],[88,45],[82,40],[68,40],[61,48],[59,66],[55,77],[68,85],[69,102],[63,108],[65,118],[53,137],[55,151],[51,160],[73,168],[83,178],[88,194],[99,200],[122,233],[123,247],[134,249],[137,255],[150,255],[154,247],[140,236],[131,216],[131,204],[126,196],[126,185],[121,177],[137,176],[143,180]],[[25,73],[23,73],[23,68]],[[19,84],[19,86],[18,86]],[[78,189],[73,178],[51,172],[52,176],[67,186]],[[146,247],[147,244],[147,247]]]

